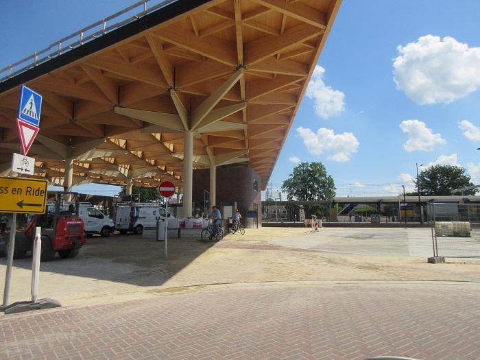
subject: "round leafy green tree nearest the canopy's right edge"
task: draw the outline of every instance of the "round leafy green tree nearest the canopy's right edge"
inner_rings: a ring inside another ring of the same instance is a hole
[[[335,190],[333,178],[326,173],[322,163],[298,164],[282,185],[288,200],[330,201]]]

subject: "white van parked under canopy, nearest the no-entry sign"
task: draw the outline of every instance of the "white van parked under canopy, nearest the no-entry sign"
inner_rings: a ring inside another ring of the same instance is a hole
[[[167,214],[169,219],[174,219],[169,212]],[[131,231],[140,235],[144,228],[155,228],[158,217],[165,221],[165,208],[160,207],[159,204],[119,204],[115,214],[115,230],[121,234]]]

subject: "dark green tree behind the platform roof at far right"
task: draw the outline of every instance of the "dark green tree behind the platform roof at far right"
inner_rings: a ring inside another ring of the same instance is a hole
[[[417,182],[414,181],[417,185]],[[463,167],[432,165],[418,175],[420,195],[451,195],[451,191],[473,186],[470,176]],[[417,188],[418,189],[418,188]],[[475,195],[475,189],[464,191],[464,195]],[[416,192],[415,195],[418,193]]]

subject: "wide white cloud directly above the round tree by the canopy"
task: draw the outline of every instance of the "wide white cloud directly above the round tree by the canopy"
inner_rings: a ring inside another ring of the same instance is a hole
[[[357,152],[359,141],[351,132],[334,134],[333,130],[320,128],[315,134],[309,128],[297,129],[303,143],[310,154],[321,155],[328,153],[328,160],[344,163],[350,160],[352,153]]]

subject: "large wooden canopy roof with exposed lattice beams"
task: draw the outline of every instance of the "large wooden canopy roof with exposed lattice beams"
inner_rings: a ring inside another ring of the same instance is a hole
[[[213,156],[243,161],[265,185],[340,3],[179,0],[5,80],[0,171],[18,149],[25,82],[43,95],[29,155],[54,184],[70,156],[73,184],[131,176],[136,186],[181,187],[185,127],[195,128],[195,167]]]

